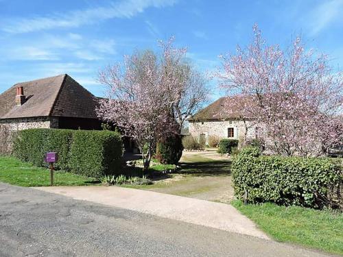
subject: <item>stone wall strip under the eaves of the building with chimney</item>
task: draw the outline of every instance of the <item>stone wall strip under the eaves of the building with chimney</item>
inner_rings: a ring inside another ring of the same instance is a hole
[[[55,117],[27,117],[15,119],[0,119],[0,124],[9,127],[11,131],[32,128],[58,128],[58,118]]]

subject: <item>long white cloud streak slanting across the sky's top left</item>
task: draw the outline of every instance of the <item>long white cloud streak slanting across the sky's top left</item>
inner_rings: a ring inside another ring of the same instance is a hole
[[[35,16],[27,19],[12,18],[2,22],[1,30],[16,34],[43,29],[80,27],[81,25],[93,24],[107,19],[128,19],[144,12],[147,8],[162,8],[174,5],[174,3],[176,3],[176,0],[121,0],[98,8],[73,10],[67,13]]]

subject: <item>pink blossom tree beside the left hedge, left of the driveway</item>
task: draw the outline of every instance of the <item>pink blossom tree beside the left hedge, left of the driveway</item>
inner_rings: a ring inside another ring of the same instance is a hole
[[[189,88],[202,82],[201,75],[185,63],[186,49],[174,48],[172,42],[172,38],[159,42],[159,54],[138,51],[126,56],[123,64],[99,73],[108,98],[101,101],[97,113],[137,143],[145,170],[157,140],[178,134],[185,116],[195,112],[205,98],[191,95]],[[200,93],[203,88],[204,83]]]

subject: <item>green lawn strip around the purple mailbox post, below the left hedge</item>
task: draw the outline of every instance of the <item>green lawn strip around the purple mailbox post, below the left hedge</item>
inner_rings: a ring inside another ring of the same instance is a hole
[[[49,186],[49,169],[34,167],[32,164],[21,162],[16,158],[0,156],[0,182],[16,186]],[[76,186],[95,184],[94,178],[86,178],[63,171],[54,172],[56,186]]]

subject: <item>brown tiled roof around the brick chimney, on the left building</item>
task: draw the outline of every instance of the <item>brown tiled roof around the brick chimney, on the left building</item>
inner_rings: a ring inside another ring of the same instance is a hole
[[[23,86],[25,102],[16,106],[16,88]],[[98,99],[69,75],[15,84],[0,95],[0,119],[79,117],[96,119]]]

